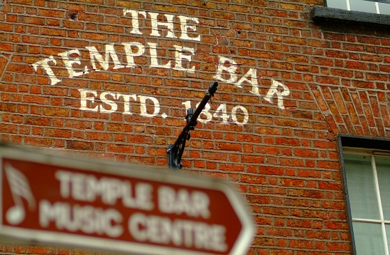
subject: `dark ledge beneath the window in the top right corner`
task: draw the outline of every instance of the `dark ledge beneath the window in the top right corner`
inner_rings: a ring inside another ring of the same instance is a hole
[[[311,10],[311,17],[314,22],[318,23],[348,21],[390,26],[390,15],[363,13],[354,10],[341,10],[323,6],[315,6],[313,10]]]

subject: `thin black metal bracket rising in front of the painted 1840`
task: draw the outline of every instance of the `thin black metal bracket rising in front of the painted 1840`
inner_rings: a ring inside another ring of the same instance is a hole
[[[182,169],[182,153],[184,152],[185,142],[191,138],[190,130],[194,130],[196,124],[198,124],[198,116],[203,111],[203,108],[207,102],[214,96],[215,91],[217,91],[218,82],[213,82],[208,90],[206,91],[205,97],[199,103],[198,107],[194,109],[187,109],[187,116],[185,119],[187,125],[183,128],[175,144],[171,144],[166,150],[168,154],[168,167],[172,171],[180,171]]]

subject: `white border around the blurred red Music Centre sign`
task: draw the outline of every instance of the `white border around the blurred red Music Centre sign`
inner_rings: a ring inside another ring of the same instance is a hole
[[[98,173],[115,173],[122,176],[129,176],[144,180],[155,180],[164,183],[187,185],[189,187],[207,188],[210,190],[219,190],[226,194],[228,201],[238,219],[242,224],[242,229],[233,245],[229,255],[242,255],[247,252],[255,234],[255,224],[249,213],[247,205],[242,201],[242,197],[228,183],[221,180],[208,178],[199,178],[185,174],[172,173],[168,171],[151,171],[151,167],[142,167],[137,165],[125,164],[107,164],[107,162],[97,162],[79,160],[75,158],[65,158],[55,155],[37,153],[26,148],[8,146],[0,144],[0,159],[8,157],[16,160],[27,160],[41,164],[51,164],[62,167],[70,167],[83,171],[95,171]],[[0,160],[0,192],[2,192],[3,166]],[[137,242],[125,242],[121,240],[107,240],[103,238],[86,237],[84,235],[72,235],[68,233],[53,233],[51,231],[32,231],[13,226],[3,226],[3,201],[0,196],[0,235],[6,235],[13,238],[23,238],[27,242],[43,242],[58,245],[77,245],[79,247],[88,247],[91,249],[104,249],[114,252],[136,252],[148,255],[205,255],[211,253],[189,251],[186,249],[160,247],[158,245],[138,244]]]

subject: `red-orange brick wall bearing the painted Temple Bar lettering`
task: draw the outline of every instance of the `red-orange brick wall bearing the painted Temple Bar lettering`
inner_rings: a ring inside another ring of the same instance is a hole
[[[389,33],[314,24],[314,5],[322,1],[4,1],[1,140],[166,166],[185,102],[195,107],[219,81],[182,162],[240,187],[258,227],[248,254],[351,254],[336,135],[389,137]],[[147,13],[140,33],[124,10]],[[150,13],[172,17],[173,33],[159,24],[151,35]]]

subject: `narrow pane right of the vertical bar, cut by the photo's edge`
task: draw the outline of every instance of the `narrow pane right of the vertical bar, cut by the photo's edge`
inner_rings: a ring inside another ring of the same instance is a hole
[[[375,157],[383,216],[390,220],[390,159]]]

